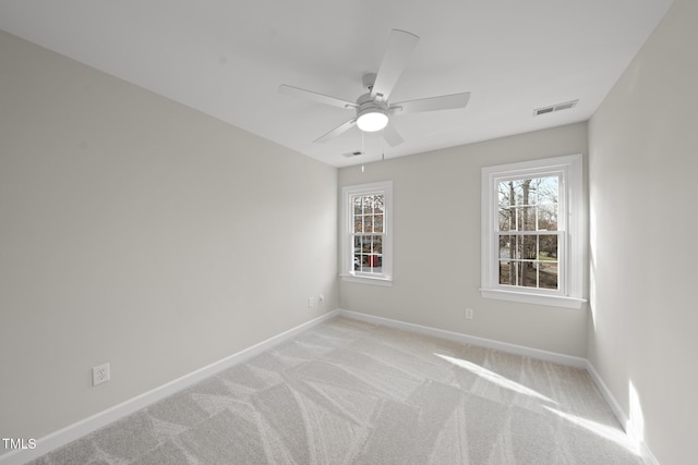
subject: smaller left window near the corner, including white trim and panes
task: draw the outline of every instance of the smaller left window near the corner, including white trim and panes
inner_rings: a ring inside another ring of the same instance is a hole
[[[393,183],[342,188],[341,277],[389,285],[393,279]]]

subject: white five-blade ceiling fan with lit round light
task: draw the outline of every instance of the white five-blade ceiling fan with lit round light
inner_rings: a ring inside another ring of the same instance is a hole
[[[314,100],[320,103],[351,109],[356,117],[322,135],[314,143],[324,143],[336,137],[354,125],[364,132],[383,130],[383,137],[395,147],[404,142],[400,134],[393,125],[388,125],[389,117],[401,113],[418,113],[435,110],[450,110],[464,108],[468,105],[470,93],[459,93],[438,97],[429,97],[418,100],[407,100],[390,103],[389,97],[397,79],[402,74],[407,61],[412,54],[419,37],[400,29],[393,29],[388,47],[383,56],[377,73],[363,76],[363,86],[369,90],[357,99],[356,102],[340,98],[317,94],[299,87],[281,84],[279,93]]]

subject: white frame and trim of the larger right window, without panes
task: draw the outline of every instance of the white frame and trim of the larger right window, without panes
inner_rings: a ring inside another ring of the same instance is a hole
[[[513,178],[534,178],[561,173],[558,206],[558,290],[500,284],[498,192],[497,183]],[[582,156],[569,155],[482,169],[481,287],[486,298],[581,308],[583,285]]]

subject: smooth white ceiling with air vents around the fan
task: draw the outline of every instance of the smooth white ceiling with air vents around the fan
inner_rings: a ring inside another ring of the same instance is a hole
[[[0,0],[0,28],[342,167],[589,119],[672,1]],[[352,110],[279,84],[353,101],[393,28],[421,39],[390,100],[471,91],[468,107],[393,117],[395,148],[356,127],[313,144]]]

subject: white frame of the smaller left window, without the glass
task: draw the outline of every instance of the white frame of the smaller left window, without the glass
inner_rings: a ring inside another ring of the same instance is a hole
[[[384,201],[383,216],[383,257],[382,273],[361,273],[353,266],[353,205],[356,195],[382,194]],[[344,281],[363,284],[393,285],[393,181],[345,186],[341,188],[341,270]]]

